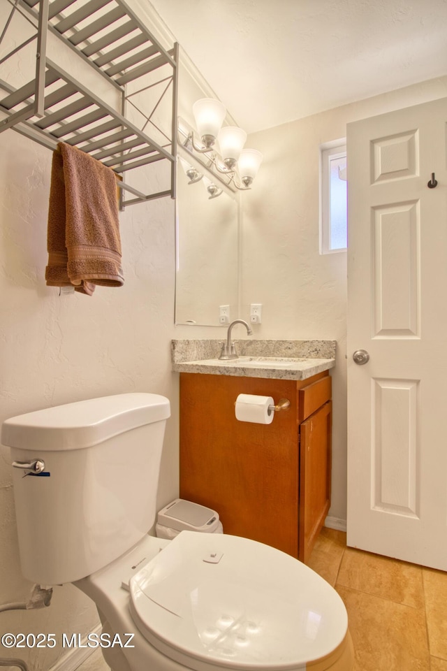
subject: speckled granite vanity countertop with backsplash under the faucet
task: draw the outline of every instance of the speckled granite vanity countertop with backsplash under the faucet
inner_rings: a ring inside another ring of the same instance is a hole
[[[239,359],[219,359],[221,340],[173,340],[177,373],[307,380],[335,366],[335,340],[235,340]]]

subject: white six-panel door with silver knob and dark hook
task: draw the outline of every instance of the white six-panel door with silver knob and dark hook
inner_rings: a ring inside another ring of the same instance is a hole
[[[447,99],[441,99],[349,124],[347,131],[347,540],[443,570],[446,130]],[[432,173],[438,184],[429,188]],[[356,350],[369,361],[355,363]]]

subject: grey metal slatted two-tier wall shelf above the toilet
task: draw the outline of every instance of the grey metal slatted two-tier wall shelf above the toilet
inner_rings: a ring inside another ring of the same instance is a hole
[[[37,50],[34,80],[14,89],[0,79],[0,89],[6,92],[0,99],[0,112],[5,115],[0,121],[0,132],[12,128],[52,150],[62,141],[91,154],[121,175],[117,184],[122,191],[135,196],[133,199],[122,198],[122,206],[163,196],[175,198],[178,45],[170,51],[165,50],[124,0],[87,0],[84,3],[82,0],[3,1],[8,1],[12,8],[0,34],[0,42],[16,11],[36,28],[36,35],[10,51],[1,59],[0,65],[33,40],[37,40]],[[73,11],[64,14],[71,5],[75,6]],[[46,57],[47,31],[64,41],[78,57],[119,90],[121,113]],[[166,68],[163,75],[161,71],[157,73],[163,66],[168,66],[168,76]],[[131,96],[135,95],[135,92],[126,93],[126,85],[150,73],[156,73],[160,78],[147,88],[161,85],[163,91],[151,113],[142,113],[145,125],[140,130],[124,116],[126,102],[132,104]],[[172,96],[170,138],[152,120],[163,96],[169,93]],[[146,132],[149,124],[166,137],[166,145],[149,137]],[[143,194],[124,182],[127,171],[156,161],[170,164],[170,189]]]

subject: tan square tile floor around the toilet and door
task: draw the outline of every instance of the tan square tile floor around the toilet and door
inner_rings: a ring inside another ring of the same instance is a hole
[[[447,671],[447,573],[346,547],[323,528],[309,565],[344,600],[353,671]],[[95,652],[78,671],[108,671]]]

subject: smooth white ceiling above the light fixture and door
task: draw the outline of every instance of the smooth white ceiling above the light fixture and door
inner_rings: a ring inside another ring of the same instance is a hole
[[[447,0],[151,0],[252,132],[447,74]]]

